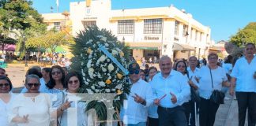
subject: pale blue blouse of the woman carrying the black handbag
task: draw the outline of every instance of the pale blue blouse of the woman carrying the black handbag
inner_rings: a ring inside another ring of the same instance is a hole
[[[201,98],[209,99],[213,90],[221,91],[222,82],[227,81],[225,69],[218,66],[216,69],[212,69],[213,87],[210,69],[208,65],[202,66],[196,73],[196,77],[199,79],[199,95]]]

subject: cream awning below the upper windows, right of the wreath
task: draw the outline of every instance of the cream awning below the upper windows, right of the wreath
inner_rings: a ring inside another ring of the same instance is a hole
[[[160,50],[162,43],[126,43],[129,49]]]

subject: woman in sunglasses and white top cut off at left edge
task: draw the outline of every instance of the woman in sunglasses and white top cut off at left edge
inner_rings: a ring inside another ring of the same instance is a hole
[[[10,93],[13,85],[8,77],[0,76],[0,126],[9,126],[7,112],[13,102],[14,95]]]

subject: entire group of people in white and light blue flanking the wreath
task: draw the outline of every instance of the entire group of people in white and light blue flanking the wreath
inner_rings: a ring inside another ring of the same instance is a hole
[[[244,56],[234,67],[225,70],[218,65],[218,55],[208,55],[208,65],[197,68],[197,57],[190,57],[188,64],[171,58],[160,58],[160,72],[155,67],[141,70],[133,62],[129,65],[130,93],[120,111],[120,120],[126,126],[194,126],[199,113],[200,126],[213,126],[220,103],[210,98],[213,91],[230,87],[239,106],[239,126],[245,123],[248,109],[248,125],[256,124],[256,53],[248,43]],[[145,72],[147,71],[147,72]],[[230,75],[231,80],[227,77]],[[146,74],[149,77],[146,77]],[[77,72],[67,72],[61,66],[51,68],[32,67],[26,75],[21,94],[13,95],[13,85],[0,69],[0,125],[69,125],[68,109],[77,107],[77,124],[88,125],[86,102],[72,102],[82,85]],[[200,100],[191,97],[198,93]],[[79,101],[79,100],[78,100]],[[71,112],[72,113],[72,112]]]

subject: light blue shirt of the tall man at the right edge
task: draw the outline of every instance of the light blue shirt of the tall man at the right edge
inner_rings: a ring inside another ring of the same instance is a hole
[[[256,72],[256,57],[248,64],[245,57],[240,57],[232,69],[230,76],[236,78],[235,91],[241,92],[256,92],[256,79],[254,79],[254,72]]]

